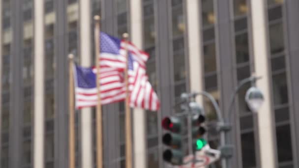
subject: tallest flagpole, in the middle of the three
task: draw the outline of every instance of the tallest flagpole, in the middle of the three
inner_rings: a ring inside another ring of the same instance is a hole
[[[97,87],[97,97],[98,102],[96,106],[96,167],[103,167],[103,129],[102,129],[102,108],[101,108],[101,92],[100,92],[100,19],[101,17],[94,16],[95,27],[94,27],[94,45],[95,45],[95,66],[96,66],[96,87]]]

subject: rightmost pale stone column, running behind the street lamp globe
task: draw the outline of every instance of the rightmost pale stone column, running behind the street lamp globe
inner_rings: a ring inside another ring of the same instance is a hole
[[[262,79],[257,81],[257,87],[264,94],[265,102],[258,112],[258,128],[260,142],[261,168],[275,168],[274,131],[270,97],[270,76],[268,61],[268,36],[266,2],[264,0],[251,1],[253,54],[255,73]]]

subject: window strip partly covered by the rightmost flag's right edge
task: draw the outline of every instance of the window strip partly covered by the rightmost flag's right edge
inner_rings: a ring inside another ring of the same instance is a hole
[[[154,0],[143,1],[143,46],[144,50],[149,54],[147,62],[147,74],[149,82],[152,87],[157,90],[157,76],[156,76],[156,29],[155,29],[155,16],[154,16]],[[157,112],[146,112],[146,135],[148,147],[148,167],[158,167],[158,114]],[[153,152],[150,152],[152,151]]]

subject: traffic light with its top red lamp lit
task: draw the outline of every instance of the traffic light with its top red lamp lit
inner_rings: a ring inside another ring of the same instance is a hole
[[[172,165],[180,165],[183,161],[181,127],[179,117],[165,117],[162,120],[162,128],[169,131],[162,137],[163,143],[169,147],[163,152],[163,160]]]

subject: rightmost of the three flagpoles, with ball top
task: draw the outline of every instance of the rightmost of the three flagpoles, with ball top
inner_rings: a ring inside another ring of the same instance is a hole
[[[126,68],[124,71],[124,80],[126,87],[126,96],[125,96],[125,161],[126,168],[132,167],[132,127],[131,127],[131,110],[130,110],[130,99],[129,99],[129,82],[128,82],[128,33],[122,34],[123,39],[125,40],[125,55],[126,55]]]

